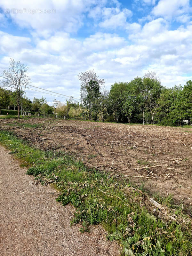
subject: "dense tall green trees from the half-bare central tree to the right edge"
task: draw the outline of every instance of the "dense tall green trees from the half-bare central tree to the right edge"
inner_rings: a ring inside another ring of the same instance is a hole
[[[166,88],[155,72],[130,82],[115,82],[110,91],[94,70],[79,74],[82,115],[89,120],[181,125],[192,121],[192,81]]]

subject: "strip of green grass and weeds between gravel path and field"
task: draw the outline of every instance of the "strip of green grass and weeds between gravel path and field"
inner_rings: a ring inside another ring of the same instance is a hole
[[[158,209],[153,212],[148,196],[125,180],[119,182],[108,173],[88,169],[73,156],[42,151],[5,131],[0,131],[0,142],[28,163],[27,174],[60,190],[58,202],[76,207],[72,223],[81,223],[81,232],[88,231],[90,224],[102,224],[107,238],[122,244],[122,255],[192,255],[191,222],[182,207],[172,210],[170,198],[164,203],[177,222],[166,219],[168,215]]]

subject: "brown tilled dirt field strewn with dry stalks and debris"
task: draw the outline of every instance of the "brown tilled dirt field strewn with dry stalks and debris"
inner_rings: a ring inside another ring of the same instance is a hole
[[[144,182],[148,193],[173,194],[177,203],[191,208],[190,128],[31,118],[0,120],[0,129],[44,150],[67,151],[89,167]]]

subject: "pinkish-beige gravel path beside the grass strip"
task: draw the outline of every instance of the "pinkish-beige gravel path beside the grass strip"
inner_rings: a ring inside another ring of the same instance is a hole
[[[0,146],[0,255],[118,255],[100,226],[81,233],[70,226],[74,208],[63,207],[50,186],[35,185],[9,151]]]

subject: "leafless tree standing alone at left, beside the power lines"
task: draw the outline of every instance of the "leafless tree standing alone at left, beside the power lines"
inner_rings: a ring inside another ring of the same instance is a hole
[[[10,59],[9,69],[4,69],[2,78],[3,78],[3,87],[9,88],[9,94],[17,102],[18,107],[18,118],[20,117],[20,105],[21,99],[25,92],[26,86],[30,82],[30,77],[27,76],[28,67],[20,63],[20,60],[15,62],[13,59]]]

